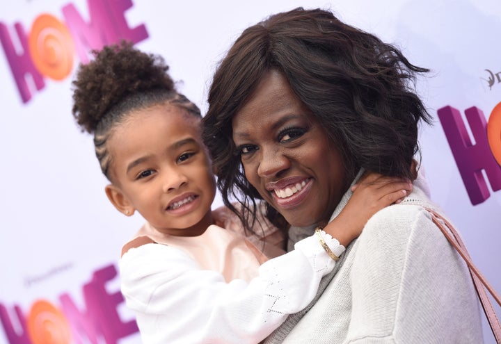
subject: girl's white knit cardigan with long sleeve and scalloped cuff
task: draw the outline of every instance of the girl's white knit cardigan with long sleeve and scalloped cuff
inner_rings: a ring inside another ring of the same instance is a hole
[[[339,255],[344,247],[325,235]],[[307,306],[335,265],[315,236],[262,264],[249,283],[200,267],[182,250],[132,248],[120,260],[122,294],[149,343],[258,343]]]

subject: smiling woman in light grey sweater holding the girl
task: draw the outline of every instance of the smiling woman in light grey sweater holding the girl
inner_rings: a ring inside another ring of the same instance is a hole
[[[227,206],[244,205],[242,219],[264,199],[289,249],[340,213],[363,171],[415,179],[267,343],[482,343],[471,277],[412,168],[418,124],[431,122],[411,87],[423,72],[374,35],[302,8],[250,26],[221,61],[203,133],[218,188]]]

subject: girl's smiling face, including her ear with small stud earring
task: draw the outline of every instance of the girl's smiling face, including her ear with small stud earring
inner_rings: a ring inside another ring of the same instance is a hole
[[[159,231],[197,236],[212,223],[216,194],[200,119],[170,105],[138,110],[109,138],[113,184],[106,194],[127,215],[137,210]]]

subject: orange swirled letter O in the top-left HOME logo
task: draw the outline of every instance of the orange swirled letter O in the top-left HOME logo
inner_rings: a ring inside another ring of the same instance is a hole
[[[39,15],[29,35],[31,60],[42,75],[63,80],[73,69],[74,42],[65,24],[53,15]]]

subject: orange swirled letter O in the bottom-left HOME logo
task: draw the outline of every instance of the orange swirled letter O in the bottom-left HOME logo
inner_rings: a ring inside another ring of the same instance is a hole
[[[70,325],[63,312],[45,300],[36,301],[26,318],[33,344],[72,343]]]

